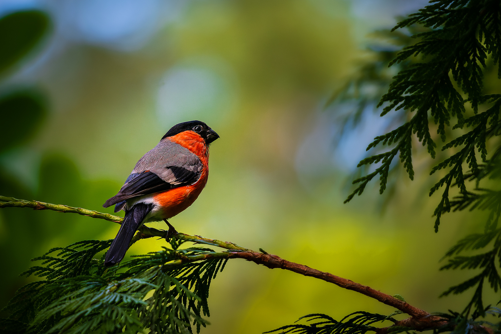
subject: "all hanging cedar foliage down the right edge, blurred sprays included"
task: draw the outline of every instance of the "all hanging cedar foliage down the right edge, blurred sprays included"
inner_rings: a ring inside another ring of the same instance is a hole
[[[480,269],[480,272],[442,295],[462,293],[475,288],[471,301],[461,316],[471,314],[472,319],[485,316],[488,306],[482,302],[484,286],[494,292],[501,290],[501,189],[496,187],[501,178],[501,94],[491,94],[485,86],[485,76],[497,66],[501,78],[500,3],[493,0],[431,1],[431,5],[401,21],[391,34],[393,46],[403,46],[374,51],[375,60],[361,68],[358,78],[352,80],[335,96],[337,101],[361,101],[361,106],[351,116],[360,117],[367,104],[378,99],[377,94],[367,95],[363,85],[381,88],[388,83],[389,70],[382,65],[396,67],[397,74],[389,83],[377,107],[381,116],[403,120],[392,131],[378,136],[369,149],[379,151],[358,164],[358,167],[375,164],[373,171],[353,181],[357,188],[348,196],[362,194],[366,185],[379,175],[380,193],[388,183],[388,174],[398,159],[410,179],[414,177],[412,165],[413,137],[426,146],[432,158],[436,156],[437,141],[441,147],[441,161],[430,174],[442,173],[430,189],[429,195],[441,191],[434,211],[435,231],[438,231],[443,213],[461,210],[487,212],[483,233],[460,240],[446,254],[448,263],[441,269]],[[396,31],[400,29],[400,31]],[[410,33],[411,39],[407,39]],[[389,32],[385,37],[391,36]],[[380,33],[381,36],[381,33]],[[497,87],[496,87],[497,88]],[[372,90],[372,92],[381,90]],[[435,134],[436,131],[436,134]],[[456,196],[453,189],[457,188]],[[487,251],[467,255],[487,247]],[[466,255],[465,255],[466,254]],[[452,313],[451,313],[452,314]]]

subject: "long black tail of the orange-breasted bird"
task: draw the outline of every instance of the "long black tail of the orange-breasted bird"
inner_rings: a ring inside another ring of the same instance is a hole
[[[110,249],[106,253],[104,265],[106,267],[120,263],[129,249],[129,243],[137,231],[143,219],[151,211],[151,204],[138,203],[125,212],[125,217],[118,230],[117,236],[113,239]]]

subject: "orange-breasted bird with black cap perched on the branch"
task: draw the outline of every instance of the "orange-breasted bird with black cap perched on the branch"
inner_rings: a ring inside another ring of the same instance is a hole
[[[148,151],[132,170],[120,191],[103,207],[115,205],[125,216],[106,253],[106,267],[120,263],[139,227],[164,220],[167,236],[177,233],[167,219],[184,211],[197,199],[209,174],[209,145],[219,135],[201,121],[174,125],[158,145]]]

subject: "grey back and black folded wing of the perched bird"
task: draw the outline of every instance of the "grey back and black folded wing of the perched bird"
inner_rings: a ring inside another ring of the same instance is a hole
[[[170,141],[160,142],[137,162],[118,194],[103,206],[117,204],[118,212],[129,198],[193,184],[200,178],[202,168],[200,159],[188,149]]]

